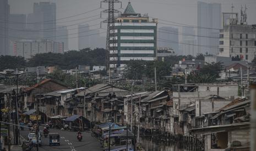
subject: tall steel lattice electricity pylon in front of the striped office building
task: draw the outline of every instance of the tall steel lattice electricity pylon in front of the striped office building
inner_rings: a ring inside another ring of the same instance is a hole
[[[107,39],[106,39],[106,71],[109,73],[109,77],[111,76],[111,69],[113,69],[113,73],[116,72],[117,67],[117,46],[116,46],[116,34],[115,34],[115,13],[121,13],[121,11],[115,9],[115,3],[122,2],[118,0],[104,0],[102,3],[108,3],[108,9],[101,11],[101,13],[108,13],[107,19],[102,21],[107,23]],[[111,66],[110,66],[111,65]]]

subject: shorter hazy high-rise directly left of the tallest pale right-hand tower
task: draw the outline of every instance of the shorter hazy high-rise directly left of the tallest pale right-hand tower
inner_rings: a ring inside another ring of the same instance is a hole
[[[181,51],[183,55],[197,55],[197,38],[193,28],[182,27]]]

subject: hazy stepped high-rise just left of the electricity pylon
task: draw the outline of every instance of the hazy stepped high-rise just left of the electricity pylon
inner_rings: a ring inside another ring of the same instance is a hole
[[[99,30],[90,30],[88,24],[78,25],[78,49],[105,48],[106,38],[100,36]]]

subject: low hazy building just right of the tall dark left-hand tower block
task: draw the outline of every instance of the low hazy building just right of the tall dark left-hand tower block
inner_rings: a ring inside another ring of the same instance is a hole
[[[57,26],[56,28],[56,42],[64,43],[64,51],[68,50],[68,30],[67,26]]]

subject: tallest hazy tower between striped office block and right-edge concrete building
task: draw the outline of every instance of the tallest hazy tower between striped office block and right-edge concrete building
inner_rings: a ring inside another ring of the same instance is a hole
[[[219,50],[217,38],[221,28],[221,4],[198,2],[197,7],[198,53],[216,55]]]

